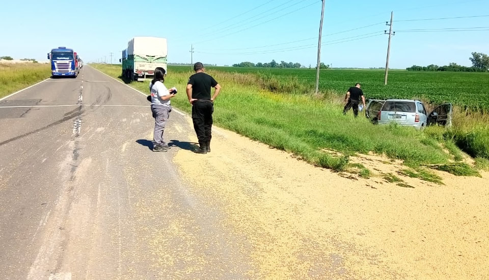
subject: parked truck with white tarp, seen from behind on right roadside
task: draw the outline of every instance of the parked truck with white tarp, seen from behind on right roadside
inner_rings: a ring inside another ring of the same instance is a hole
[[[122,76],[144,81],[154,75],[156,67],[167,70],[168,46],[166,38],[134,37],[122,51]]]

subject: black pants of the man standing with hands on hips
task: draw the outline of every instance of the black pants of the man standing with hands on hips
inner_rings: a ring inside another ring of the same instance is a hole
[[[214,104],[209,99],[198,99],[192,106],[192,120],[201,147],[210,144],[212,138],[212,113]]]

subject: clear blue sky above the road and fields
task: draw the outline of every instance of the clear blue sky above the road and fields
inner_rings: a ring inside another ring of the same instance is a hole
[[[275,59],[314,66],[320,8],[319,0],[8,1],[0,10],[0,56],[46,60],[52,47],[67,46],[85,62],[104,57],[110,62],[110,52],[118,61],[131,37],[157,36],[168,38],[170,62],[190,62],[189,49],[194,43],[194,62],[229,65]],[[489,0],[327,0],[323,35],[387,21],[391,11],[394,20],[481,16],[489,15]],[[450,62],[470,66],[472,51],[489,53],[489,17],[394,21],[393,27],[398,32],[392,41],[392,68]],[[454,27],[487,28],[480,32],[400,32]],[[385,66],[387,35],[344,42],[384,30],[388,26],[382,23],[324,36],[323,43],[329,45],[322,48],[322,62],[333,67]],[[309,38],[314,39],[305,40]],[[282,44],[297,40],[304,41]],[[274,44],[281,45],[255,48]],[[300,49],[309,45],[312,47]],[[283,51],[291,47],[297,48]]]

